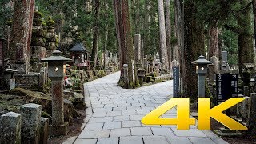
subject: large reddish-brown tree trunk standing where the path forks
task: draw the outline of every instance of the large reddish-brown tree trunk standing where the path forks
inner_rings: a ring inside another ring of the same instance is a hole
[[[128,0],[114,0],[114,12],[116,15],[116,27],[117,27],[117,37],[118,37],[118,46],[120,47],[120,65],[128,64],[128,81],[124,81],[124,72],[122,67],[122,74],[118,85],[122,85],[126,88],[134,87],[134,78],[136,75],[133,75],[132,61],[134,61],[134,46],[133,46],[133,37],[130,27],[130,17],[129,17],[129,5]]]

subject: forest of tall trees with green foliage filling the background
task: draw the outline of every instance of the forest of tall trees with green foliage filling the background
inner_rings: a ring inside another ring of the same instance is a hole
[[[2,0],[0,26],[10,21],[13,0]],[[134,34],[142,35],[145,55],[158,52],[166,69],[177,60],[182,95],[197,98],[191,64],[199,55],[229,53],[230,66],[254,63],[256,0],[46,0],[36,1],[44,19],[52,16],[61,44],[82,42],[94,60],[118,53],[121,66],[134,57]],[[129,65],[130,66],[130,65]],[[121,69],[122,70],[122,69]]]

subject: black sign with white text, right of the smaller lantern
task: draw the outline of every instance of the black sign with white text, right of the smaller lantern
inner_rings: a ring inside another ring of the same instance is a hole
[[[216,74],[216,104],[238,97],[238,74]]]

